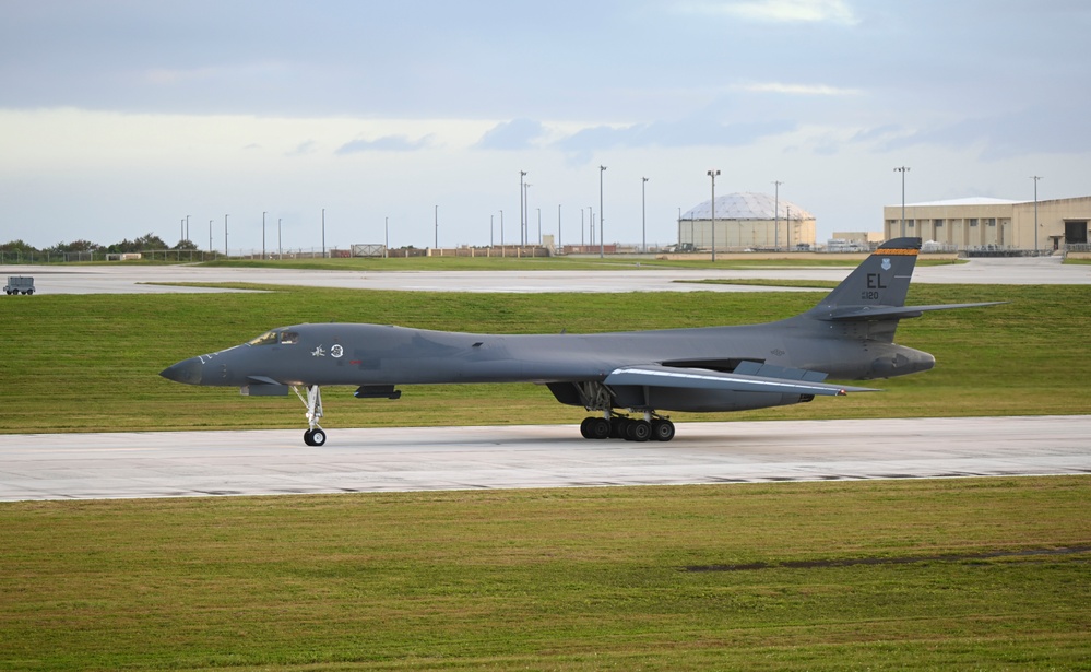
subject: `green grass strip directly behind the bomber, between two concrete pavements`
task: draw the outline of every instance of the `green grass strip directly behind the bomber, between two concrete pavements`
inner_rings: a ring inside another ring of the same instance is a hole
[[[268,288],[268,287],[266,287]],[[0,297],[0,432],[301,427],[294,398],[242,398],[157,374],[186,357],[299,322],[369,321],[499,333],[571,333],[768,321],[821,298],[811,293],[621,295],[453,294],[276,287],[264,294]],[[1007,305],[905,320],[898,342],[936,355],[928,373],[877,381],[882,393],[676,420],[1084,413],[1091,409],[1091,287],[914,285],[917,304]],[[608,309],[603,309],[608,307]],[[324,425],[579,422],[534,385],[419,386],[399,401],[325,390]]]

